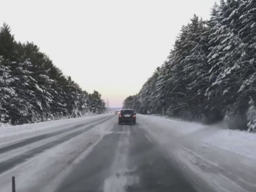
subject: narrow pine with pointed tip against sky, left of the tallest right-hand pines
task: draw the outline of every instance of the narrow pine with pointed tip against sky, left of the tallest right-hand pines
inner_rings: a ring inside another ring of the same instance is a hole
[[[188,113],[191,118],[198,119],[202,116],[202,106],[205,100],[204,93],[208,86],[207,73],[209,66],[206,56],[208,54],[208,28],[206,22],[194,15],[189,24],[186,42],[189,48],[181,65],[183,81],[186,83]]]

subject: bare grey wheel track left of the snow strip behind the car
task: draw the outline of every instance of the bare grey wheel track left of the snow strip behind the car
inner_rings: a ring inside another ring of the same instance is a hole
[[[113,124],[113,133],[105,135],[93,150],[81,160],[72,172],[59,184],[55,192],[97,191],[103,192],[104,180],[112,175],[118,141],[124,125]],[[120,191],[121,192],[121,191]]]

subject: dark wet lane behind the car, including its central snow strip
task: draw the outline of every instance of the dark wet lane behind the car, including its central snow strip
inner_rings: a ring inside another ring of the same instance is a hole
[[[117,123],[56,191],[195,191],[137,125]]]

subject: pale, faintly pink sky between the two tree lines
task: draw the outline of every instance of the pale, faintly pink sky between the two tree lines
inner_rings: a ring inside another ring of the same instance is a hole
[[[195,13],[208,19],[215,2],[0,0],[0,24],[15,40],[33,41],[83,90],[119,107],[166,60],[182,25]]]

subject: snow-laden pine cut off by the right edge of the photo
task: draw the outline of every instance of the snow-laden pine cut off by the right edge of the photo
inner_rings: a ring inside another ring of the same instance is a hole
[[[243,71],[241,72],[242,83],[238,90],[241,97],[241,105],[247,107],[249,96],[253,96],[256,91],[256,2],[253,0],[241,1],[238,9],[239,18],[239,38],[244,43],[241,63],[243,63]]]

